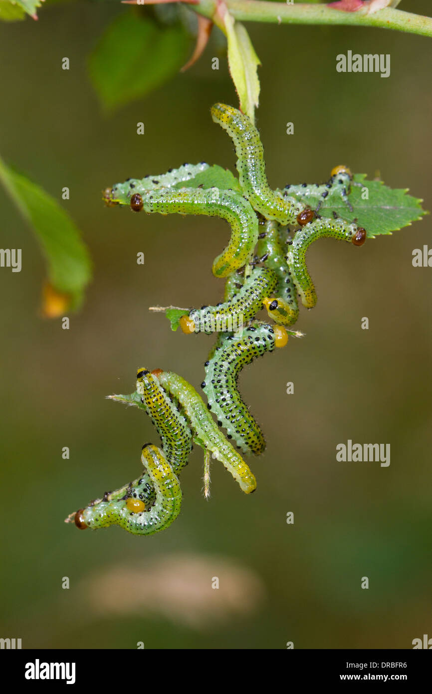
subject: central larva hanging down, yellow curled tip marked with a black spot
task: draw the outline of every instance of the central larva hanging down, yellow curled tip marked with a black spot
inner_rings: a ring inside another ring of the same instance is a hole
[[[299,310],[297,305],[297,290],[295,289],[291,271],[288,268],[284,251],[279,240],[277,222],[261,221],[261,233],[258,237],[257,256],[266,267],[272,269],[277,276],[275,295],[269,294],[263,301],[268,316],[281,325],[293,325],[297,321]]]

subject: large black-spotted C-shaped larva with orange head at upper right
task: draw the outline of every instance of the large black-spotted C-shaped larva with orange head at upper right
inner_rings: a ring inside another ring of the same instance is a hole
[[[243,452],[259,455],[266,448],[266,441],[237,389],[239,372],[253,359],[273,352],[275,347],[284,347],[287,341],[281,325],[254,323],[243,331],[242,337],[226,337],[216,347],[214,357],[205,363],[201,387],[209,408],[216,414],[218,425],[227,430],[228,439],[234,439]]]

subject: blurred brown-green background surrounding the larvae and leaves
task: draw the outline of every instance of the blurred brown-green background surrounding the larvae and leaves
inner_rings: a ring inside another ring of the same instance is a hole
[[[430,3],[403,8],[426,13]],[[432,270],[411,264],[413,248],[431,244],[430,217],[358,251],[330,239],[311,248],[319,299],[300,314],[306,337],[241,375],[268,441],[250,460],[254,495],[214,462],[206,502],[195,449],[182,473],[182,514],[166,532],[140,538],[63,523],[136,477],[141,444],[158,443],[146,416],[105,396],[132,391],[138,366],[202,380],[211,338],[172,333],[148,306],[216,303],[223,291],[211,276],[227,240],[221,220],[139,216],[101,202],[107,185],[186,161],[234,169],[232,143],[209,115],[215,101],[236,105],[226,60],[211,69],[215,44],[187,73],[103,115],[87,56],[126,11],[58,4],[38,22],[0,26],[0,152],[59,200],[69,186],[62,205],[95,266],[69,331],[40,319],[44,261],[0,190],[1,246],[22,248],[23,263],[21,273],[0,271],[0,636],[22,638],[23,648],[411,648],[432,628]],[[409,187],[432,208],[430,40],[248,29],[262,62],[257,124],[271,185],[326,180],[345,163]],[[336,55],[348,49],[390,53],[390,78],[336,73]],[[347,439],[390,443],[390,466],[336,462]]]

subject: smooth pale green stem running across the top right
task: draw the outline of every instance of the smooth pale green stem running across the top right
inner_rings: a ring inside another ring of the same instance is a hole
[[[295,3],[287,5],[279,2],[261,0],[225,0],[234,19],[241,22],[275,22],[276,24],[338,24],[344,26],[377,26],[395,29],[420,36],[432,36],[432,18],[414,15],[412,12],[386,8],[368,14],[368,8],[356,12],[341,12],[326,5]],[[188,5],[199,15],[214,19],[216,0],[199,0]]]

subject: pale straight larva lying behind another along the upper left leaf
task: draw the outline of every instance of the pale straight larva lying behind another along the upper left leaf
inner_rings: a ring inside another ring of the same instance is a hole
[[[105,202],[108,205],[129,205],[130,198],[133,194],[145,194],[149,190],[157,190],[158,188],[171,188],[178,183],[185,183],[197,174],[200,174],[205,169],[209,168],[209,164],[200,162],[200,164],[182,164],[178,169],[170,169],[166,174],[155,174],[153,176],[145,176],[144,178],[128,178],[124,183],[114,183],[112,188],[105,191]]]

